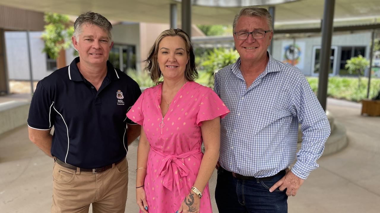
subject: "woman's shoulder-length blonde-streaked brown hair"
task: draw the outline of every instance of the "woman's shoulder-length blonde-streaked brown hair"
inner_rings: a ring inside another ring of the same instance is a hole
[[[188,81],[194,81],[196,78],[198,78],[198,71],[195,67],[195,56],[193,51],[193,46],[190,41],[190,37],[187,33],[185,33],[181,29],[169,29],[163,31],[156,41],[154,42],[152,48],[150,49],[149,56],[145,60],[146,61],[146,67],[145,69],[150,72],[150,78],[154,83],[159,83],[158,80],[161,78],[162,73],[160,70],[160,66],[158,65],[157,55],[158,55],[158,45],[160,44],[161,40],[166,36],[179,36],[180,38],[184,39],[185,46],[186,46],[186,52],[189,57],[189,61],[186,64],[185,68],[185,78]]]

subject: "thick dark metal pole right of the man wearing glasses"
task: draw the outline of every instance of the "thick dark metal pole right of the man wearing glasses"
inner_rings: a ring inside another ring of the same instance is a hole
[[[319,71],[318,94],[317,98],[326,111],[327,83],[329,77],[330,55],[331,55],[331,36],[332,21],[334,19],[335,0],[325,0],[322,22],[322,45],[320,52],[321,66]]]

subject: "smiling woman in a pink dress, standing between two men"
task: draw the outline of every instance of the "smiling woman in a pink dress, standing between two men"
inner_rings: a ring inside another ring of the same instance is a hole
[[[163,31],[147,69],[155,83],[127,116],[140,124],[136,200],[140,212],[212,213],[208,181],[219,157],[220,118],[230,111],[198,77],[188,35]],[[204,155],[201,144],[204,143]]]

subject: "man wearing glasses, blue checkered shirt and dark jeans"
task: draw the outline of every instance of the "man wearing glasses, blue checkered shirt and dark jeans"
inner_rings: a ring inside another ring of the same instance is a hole
[[[220,126],[218,210],[287,212],[288,196],[318,167],[330,125],[302,72],[267,52],[268,10],[243,8],[233,33],[240,58],[215,74],[214,90],[231,110]],[[296,155],[299,123],[303,141]]]

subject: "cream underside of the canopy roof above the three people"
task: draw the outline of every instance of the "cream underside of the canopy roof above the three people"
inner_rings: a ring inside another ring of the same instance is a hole
[[[279,2],[272,1],[206,1],[196,2]],[[296,0],[272,5],[275,7],[275,26],[293,22],[320,23],[325,0]],[[127,22],[170,22],[170,4],[177,3],[180,23],[180,3],[175,0],[0,0],[0,5],[40,12],[55,12],[78,16],[87,11],[102,14],[110,20]],[[227,4],[227,3],[226,3]],[[264,6],[269,8],[269,6]],[[239,7],[192,6],[193,24],[232,24]],[[334,19],[365,19],[380,21],[379,0],[336,0]],[[364,22],[361,22],[364,23]]]

